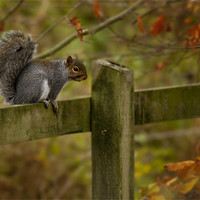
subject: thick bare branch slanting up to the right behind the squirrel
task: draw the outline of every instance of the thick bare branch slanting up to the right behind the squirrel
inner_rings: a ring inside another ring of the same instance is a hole
[[[122,11],[121,13],[108,18],[106,21],[101,22],[100,24],[90,28],[90,29],[85,29],[83,30],[82,35],[88,35],[90,34],[95,34],[98,31],[101,31],[102,29],[106,28],[107,26],[122,20],[123,18],[125,18],[129,13],[131,13],[132,11],[134,11],[135,9],[138,8],[139,5],[141,5],[142,3],[144,3],[146,0],[141,0],[139,2],[137,2],[136,4],[131,5],[128,9]],[[56,53],[57,51],[59,51],[60,49],[62,49],[63,47],[65,47],[66,45],[68,45],[70,42],[72,42],[73,40],[77,39],[78,36],[76,33],[72,34],[71,36],[67,37],[66,39],[64,39],[63,41],[61,41],[59,44],[57,44],[56,46],[54,46],[53,48],[51,48],[50,50],[41,53],[39,55],[37,55],[35,58],[45,58],[47,56],[50,56],[54,53]]]

